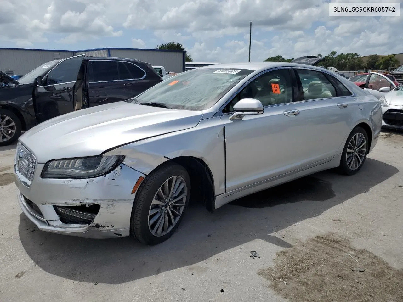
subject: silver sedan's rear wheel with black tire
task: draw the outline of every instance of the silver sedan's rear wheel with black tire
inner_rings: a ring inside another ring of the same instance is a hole
[[[356,140],[358,140],[358,146],[356,146]],[[356,147],[362,146],[364,140],[365,146],[356,149]],[[349,137],[347,138],[343,153],[341,155],[339,166],[340,172],[345,175],[353,175],[361,170],[367,158],[368,147],[367,132],[361,127],[354,128],[354,130],[351,131]],[[353,150],[353,152],[350,152],[349,150]]]

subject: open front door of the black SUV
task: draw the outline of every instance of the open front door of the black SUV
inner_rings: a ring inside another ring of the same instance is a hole
[[[74,85],[85,54],[61,60],[37,81],[33,105],[38,123],[74,111]]]

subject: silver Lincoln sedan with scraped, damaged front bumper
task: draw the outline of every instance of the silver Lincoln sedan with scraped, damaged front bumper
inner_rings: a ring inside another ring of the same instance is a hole
[[[189,201],[213,211],[321,170],[357,173],[381,123],[376,97],[307,62],[206,66],[25,132],[18,202],[43,231],[158,244]]]

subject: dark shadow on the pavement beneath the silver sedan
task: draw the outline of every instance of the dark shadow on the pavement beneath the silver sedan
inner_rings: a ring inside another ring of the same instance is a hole
[[[83,282],[120,284],[192,266],[255,239],[292,247],[272,233],[368,192],[399,170],[367,159],[354,176],[325,171],[251,194],[208,213],[193,204],[166,242],[139,244],[130,237],[92,240],[46,233],[20,215],[19,237],[31,259],[44,271]],[[341,217],[342,218],[342,217]]]

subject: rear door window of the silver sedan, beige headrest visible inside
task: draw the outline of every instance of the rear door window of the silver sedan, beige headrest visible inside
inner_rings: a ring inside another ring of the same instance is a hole
[[[337,96],[336,89],[322,72],[307,69],[296,70],[301,80],[305,100]]]

